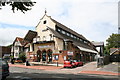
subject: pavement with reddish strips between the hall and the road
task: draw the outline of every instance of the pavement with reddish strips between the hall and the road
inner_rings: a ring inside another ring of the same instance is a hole
[[[57,73],[69,73],[69,74],[96,74],[96,75],[115,75],[120,76],[119,72],[119,63],[111,63],[103,67],[97,68],[97,62],[89,62],[84,66],[76,68],[63,68],[63,66],[55,65],[33,65],[25,66],[23,64],[9,64],[10,67],[21,67],[21,68],[30,68],[30,69],[41,69],[46,71],[52,71]]]

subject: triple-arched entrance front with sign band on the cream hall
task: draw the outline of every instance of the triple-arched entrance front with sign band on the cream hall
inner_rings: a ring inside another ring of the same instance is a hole
[[[35,44],[35,54],[37,62],[52,62],[54,43]]]

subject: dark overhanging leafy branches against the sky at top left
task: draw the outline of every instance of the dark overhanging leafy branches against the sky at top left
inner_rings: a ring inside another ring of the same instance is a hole
[[[20,10],[21,12],[25,13],[25,11],[31,10],[31,7],[34,6],[34,3],[36,2],[32,2],[31,0],[1,0],[0,9],[2,9],[2,6],[9,5],[12,7],[13,12],[15,12],[15,10]]]

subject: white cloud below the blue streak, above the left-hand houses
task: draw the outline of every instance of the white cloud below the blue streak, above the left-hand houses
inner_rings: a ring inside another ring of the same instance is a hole
[[[0,28],[0,45],[10,45],[16,37],[24,38],[27,31],[20,28]]]

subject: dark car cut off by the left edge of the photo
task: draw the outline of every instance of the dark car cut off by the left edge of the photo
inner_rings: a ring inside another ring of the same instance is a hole
[[[0,77],[5,80],[9,76],[9,65],[8,62],[0,58]]]

